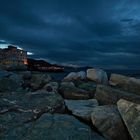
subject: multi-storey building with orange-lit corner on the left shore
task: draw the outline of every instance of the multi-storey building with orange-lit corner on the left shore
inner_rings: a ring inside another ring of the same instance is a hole
[[[15,46],[0,49],[1,65],[27,65],[27,52]]]

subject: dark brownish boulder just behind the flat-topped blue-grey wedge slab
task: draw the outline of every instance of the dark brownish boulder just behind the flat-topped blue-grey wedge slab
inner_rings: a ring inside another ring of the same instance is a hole
[[[59,93],[64,99],[86,100],[90,98],[88,91],[75,87],[73,82],[62,82]]]

